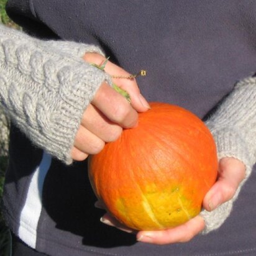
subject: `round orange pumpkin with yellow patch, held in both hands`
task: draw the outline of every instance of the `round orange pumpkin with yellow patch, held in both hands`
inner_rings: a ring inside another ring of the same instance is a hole
[[[199,214],[216,181],[208,127],[181,107],[151,103],[139,125],[89,160],[89,179],[107,211],[137,230],[178,226]]]

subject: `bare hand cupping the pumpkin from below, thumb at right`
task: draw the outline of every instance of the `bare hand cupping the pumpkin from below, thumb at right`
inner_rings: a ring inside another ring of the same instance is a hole
[[[244,163],[231,157],[222,158],[219,161],[219,176],[211,190],[208,191],[203,200],[203,207],[213,211],[222,203],[231,199],[237,190],[239,183],[244,179]],[[134,232],[132,229],[122,226],[110,214],[105,214],[101,221],[109,226],[116,226],[126,232]],[[204,229],[204,219],[196,216],[190,221],[173,229],[164,231],[139,231],[137,240],[152,244],[171,244],[175,242],[188,242]]]

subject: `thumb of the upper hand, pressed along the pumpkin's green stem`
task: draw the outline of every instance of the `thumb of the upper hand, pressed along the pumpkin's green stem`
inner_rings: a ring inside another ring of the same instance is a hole
[[[98,66],[103,65],[106,61],[106,58],[98,53],[86,53],[83,58],[86,62],[94,63]],[[130,76],[130,73],[110,61],[106,63],[104,70],[109,75],[124,77]],[[140,94],[139,87],[134,78],[113,78],[113,82],[129,93],[132,107],[134,107],[136,111],[144,112],[150,108],[149,103],[147,103],[146,99]]]

